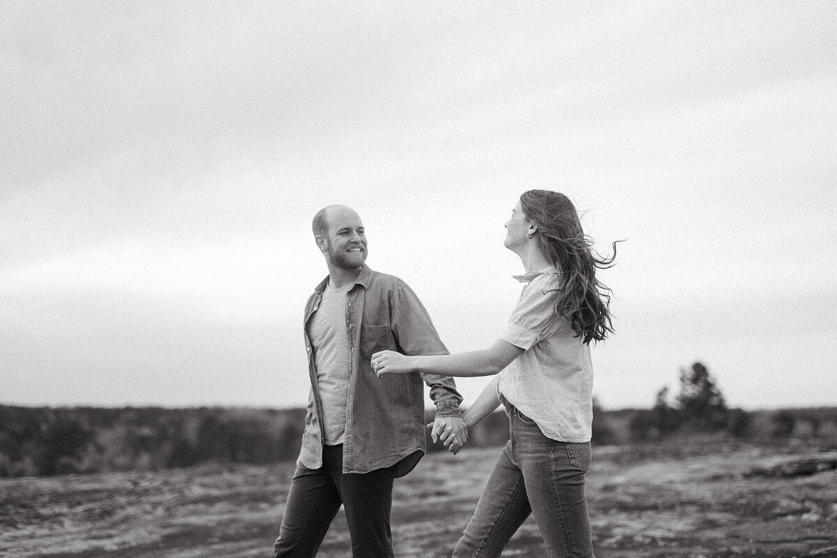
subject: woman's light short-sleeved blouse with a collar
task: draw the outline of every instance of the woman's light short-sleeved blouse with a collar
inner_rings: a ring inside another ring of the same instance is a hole
[[[516,277],[526,285],[500,339],[523,353],[501,371],[497,391],[547,438],[589,442],[593,362],[590,346],[555,313],[559,278],[554,268]]]

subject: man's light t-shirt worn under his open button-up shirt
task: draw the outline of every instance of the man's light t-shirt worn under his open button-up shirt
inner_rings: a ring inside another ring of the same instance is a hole
[[[311,316],[309,338],[314,348],[317,387],[322,402],[323,443],[343,443],[346,406],[352,377],[351,349],[346,331],[346,294],[353,283],[323,289],[320,307]]]

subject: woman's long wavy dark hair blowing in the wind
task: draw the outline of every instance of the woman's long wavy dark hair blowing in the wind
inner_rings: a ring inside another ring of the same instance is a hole
[[[543,253],[561,274],[555,311],[570,321],[584,343],[603,340],[613,333],[610,293],[596,279],[596,269],[607,269],[616,259],[616,243],[610,258],[593,249],[593,239],[584,234],[578,212],[570,199],[549,190],[529,190],[521,196],[526,218],[537,224],[535,238]]]

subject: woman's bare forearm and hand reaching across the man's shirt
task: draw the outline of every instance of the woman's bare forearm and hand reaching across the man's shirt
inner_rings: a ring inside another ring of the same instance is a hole
[[[405,356],[395,351],[379,351],[372,355],[372,370],[378,376],[410,372],[439,376],[493,376],[509,366],[522,352],[520,347],[501,339],[487,349],[454,355]]]

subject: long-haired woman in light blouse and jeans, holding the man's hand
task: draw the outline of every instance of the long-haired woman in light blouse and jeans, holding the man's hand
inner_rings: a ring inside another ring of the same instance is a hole
[[[502,402],[510,440],[498,458],[454,557],[499,556],[532,513],[550,556],[592,556],[584,474],[590,465],[593,366],[589,343],[612,333],[609,289],[573,202],[547,190],[525,192],[506,223],[504,245],[526,274],[509,324],[490,347],[443,356],[380,351],[382,374],[429,372],[495,376],[465,412],[473,427]],[[440,438],[451,451],[460,441]]]

